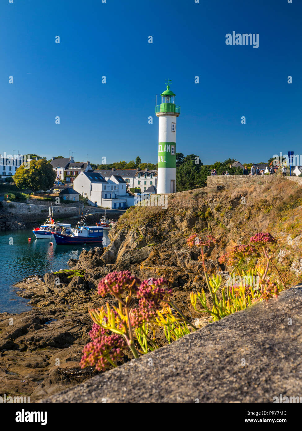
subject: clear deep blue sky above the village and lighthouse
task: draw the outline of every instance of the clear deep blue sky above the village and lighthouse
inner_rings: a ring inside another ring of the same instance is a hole
[[[205,164],[300,154],[301,12],[298,0],[3,0],[0,153],[156,163],[155,95],[170,78],[177,152]],[[259,47],[226,45],[232,31],[258,33]]]

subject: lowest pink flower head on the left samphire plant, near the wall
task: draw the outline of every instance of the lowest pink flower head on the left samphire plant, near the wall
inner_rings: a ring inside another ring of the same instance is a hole
[[[122,349],[126,346],[126,341],[121,335],[101,335],[84,347],[81,368],[94,365],[98,371],[105,371],[111,365],[108,358],[112,362],[121,359]]]

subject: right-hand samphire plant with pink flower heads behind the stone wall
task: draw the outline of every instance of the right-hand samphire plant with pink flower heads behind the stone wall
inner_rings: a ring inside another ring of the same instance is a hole
[[[209,306],[204,289],[195,294],[192,292],[190,294],[191,304],[197,312],[209,313],[212,321],[220,320],[226,315],[245,309],[256,301],[268,300],[277,296],[280,290],[285,288],[284,281],[272,262],[273,253],[270,248],[277,241],[271,234],[256,234],[250,238],[249,244],[234,246],[220,257],[219,262],[230,269],[230,275],[225,285],[223,285],[221,275],[210,277],[205,267],[205,247],[213,246],[215,243],[215,238],[211,236],[202,240],[197,234],[193,234],[187,239],[189,247],[200,248],[199,260],[202,262],[205,281],[212,298],[212,304]],[[255,265],[255,268],[244,271],[243,264],[246,263],[246,259],[252,257],[257,258],[260,263]],[[280,281],[278,282],[273,278],[272,266],[279,275]],[[197,308],[197,301],[201,303],[202,309]]]

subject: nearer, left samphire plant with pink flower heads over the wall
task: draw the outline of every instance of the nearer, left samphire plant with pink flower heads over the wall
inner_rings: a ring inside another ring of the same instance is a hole
[[[140,281],[130,271],[110,272],[98,286],[98,293],[110,294],[118,300],[118,307],[106,303],[106,308],[89,311],[93,327],[91,342],[83,350],[81,368],[94,365],[97,370],[117,366],[129,348],[134,356],[158,349],[154,337],[157,328],[163,328],[169,343],[177,340],[195,326],[171,302],[171,289],[164,278]],[[136,305],[138,300],[138,305]]]

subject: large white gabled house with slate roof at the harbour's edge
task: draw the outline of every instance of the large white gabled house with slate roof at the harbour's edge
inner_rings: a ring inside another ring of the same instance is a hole
[[[134,197],[127,193],[126,182],[119,175],[106,181],[99,172],[80,172],[73,181],[73,189],[86,197],[89,205],[112,209],[134,205]]]

